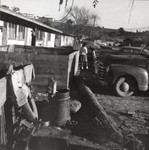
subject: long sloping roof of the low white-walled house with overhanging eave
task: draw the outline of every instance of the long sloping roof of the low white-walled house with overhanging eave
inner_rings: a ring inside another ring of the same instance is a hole
[[[0,7],[0,20],[11,22],[14,24],[19,24],[29,28],[37,28],[40,31],[45,31],[45,32],[50,32],[55,34],[63,34],[63,32],[58,29],[52,28],[37,20],[25,17],[21,13],[15,13],[14,11],[11,11],[3,7]]]

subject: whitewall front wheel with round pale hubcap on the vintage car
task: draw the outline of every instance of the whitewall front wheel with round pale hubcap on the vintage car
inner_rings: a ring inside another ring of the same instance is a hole
[[[121,77],[115,83],[116,93],[121,97],[129,97],[134,94],[133,82],[128,77]]]

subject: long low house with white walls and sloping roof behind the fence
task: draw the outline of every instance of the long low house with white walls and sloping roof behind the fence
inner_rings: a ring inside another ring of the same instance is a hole
[[[73,45],[73,37],[36,19],[0,7],[0,45],[13,44],[42,47]]]

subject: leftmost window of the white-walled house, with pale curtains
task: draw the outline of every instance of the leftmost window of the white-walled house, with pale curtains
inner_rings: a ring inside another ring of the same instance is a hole
[[[17,25],[16,24],[12,24],[9,23],[8,25],[8,38],[9,39],[16,39],[16,35],[17,35]]]

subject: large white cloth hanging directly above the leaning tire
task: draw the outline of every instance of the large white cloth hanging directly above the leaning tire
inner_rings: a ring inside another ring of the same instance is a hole
[[[25,84],[23,69],[14,71],[11,75],[11,80],[14,94],[16,96],[16,100],[12,99],[12,101],[17,103],[18,107],[23,106],[30,95],[30,89]]]

